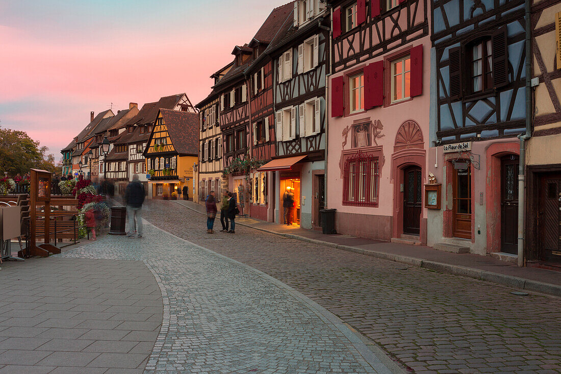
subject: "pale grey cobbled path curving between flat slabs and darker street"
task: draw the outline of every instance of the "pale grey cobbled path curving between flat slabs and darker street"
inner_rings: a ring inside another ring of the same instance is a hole
[[[140,261],[150,269],[163,322],[145,373],[389,372],[310,299],[154,226],[145,226],[142,239],[108,236],[57,257]]]

